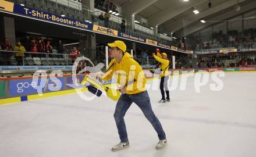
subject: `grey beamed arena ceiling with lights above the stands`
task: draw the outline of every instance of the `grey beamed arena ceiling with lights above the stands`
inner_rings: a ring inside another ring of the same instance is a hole
[[[256,8],[255,0],[114,0],[122,7],[131,8],[134,15],[148,20],[148,26],[158,26],[162,33],[170,34],[183,31],[184,36],[194,33],[204,27],[214,24],[200,23],[205,21],[220,21],[246,13]],[[211,8],[208,3],[211,2]],[[237,5],[240,10],[237,11]],[[196,9],[200,13],[194,14]]]

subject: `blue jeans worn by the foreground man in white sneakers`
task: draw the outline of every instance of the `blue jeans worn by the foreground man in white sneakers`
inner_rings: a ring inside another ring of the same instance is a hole
[[[130,108],[133,102],[138,105],[138,107],[142,110],[144,116],[147,118],[148,121],[150,121],[155,131],[157,131],[159,140],[164,140],[166,138],[165,131],[163,131],[161,123],[152,111],[148,92],[144,91],[138,94],[131,95],[122,94],[118,100],[118,103],[116,104],[114,117],[116,121],[116,127],[118,127],[118,134],[121,142],[128,141],[124,117],[126,111]]]

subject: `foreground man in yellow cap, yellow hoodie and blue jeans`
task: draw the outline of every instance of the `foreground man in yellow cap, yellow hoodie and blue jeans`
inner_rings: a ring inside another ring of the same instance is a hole
[[[144,116],[152,124],[158,134],[159,142],[156,149],[163,149],[167,144],[166,135],[162,125],[151,108],[150,97],[145,89],[146,79],[141,66],[126,52],[126,45],[123,41],[115,41],[108,44],[110,48],[111,62],[106,73],[98,78],[107,81],[115,76],[120,84],[120,96],[114,113],[116,127],[120,143],[112,148],[112,151],[129,147],[125,125],[125,113],[134,102],[144,113]]]

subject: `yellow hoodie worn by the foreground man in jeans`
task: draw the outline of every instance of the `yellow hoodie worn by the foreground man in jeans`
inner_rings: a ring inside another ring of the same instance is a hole
[[[129,53],[126,52],[119,63],[112,59],[108,67],[108,71],[100,79],[107,81],[114,76],[120,86],[125,86],[126,94],[137,94],[146,90],[142,67]]]

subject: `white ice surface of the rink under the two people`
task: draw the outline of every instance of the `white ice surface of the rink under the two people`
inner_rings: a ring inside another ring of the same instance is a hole
[[[162,150],[155,149],[157,134],[135,104],[125,116],[130,147],[119,152],[111,152],[119,136],[116,102],[109,98],[84,101],[70,94],[2,105],[0,156],[255,157],[256,73],[225,73],[221,80],[221,91],[211,91],[210,80],[197,93],[190,77],[186,90],[170,92],[165,104],[158,104],[159,90],[148,90],[168,140]]]

